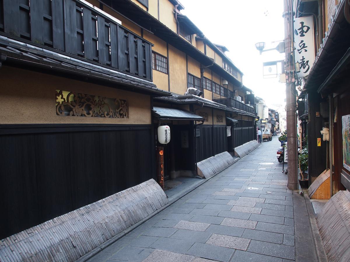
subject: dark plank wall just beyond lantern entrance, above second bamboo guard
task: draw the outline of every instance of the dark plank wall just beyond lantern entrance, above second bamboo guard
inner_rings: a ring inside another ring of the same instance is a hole
[[[197,162],[227,151],[226,125],[200,125],[197,128],[200,129],[200,136],[196,137]]]

